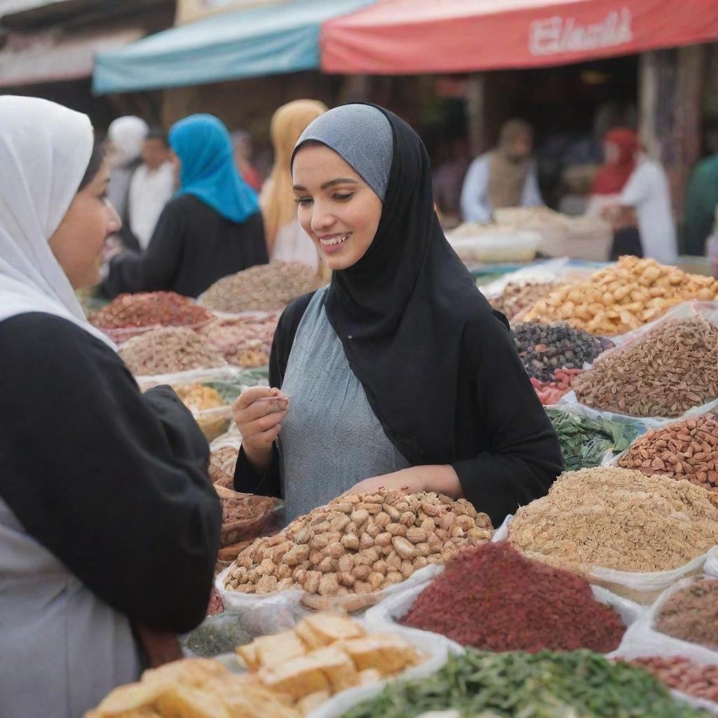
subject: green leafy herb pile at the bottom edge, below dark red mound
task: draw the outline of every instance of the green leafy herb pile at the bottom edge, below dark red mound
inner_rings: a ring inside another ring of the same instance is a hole
[[[628,663],[591,651],[451,656],[437,673],[396,681],[344,718],[415,718],[454,709],[462,718],[707,718]]]

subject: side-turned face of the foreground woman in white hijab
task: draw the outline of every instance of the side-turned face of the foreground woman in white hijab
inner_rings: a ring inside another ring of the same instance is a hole
[[[103,245],[122,225],[107,199],[109,181],[110,171],[104,161],[90,183],[75,195],[50,237],[50,249],[75,289],[99,283]]]

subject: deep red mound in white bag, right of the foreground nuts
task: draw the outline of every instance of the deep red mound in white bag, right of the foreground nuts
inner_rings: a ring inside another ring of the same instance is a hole
[[[532,561],[505,541],[449,561],[401,623],[488,651],[618,648],[625,625],[571,572]]]

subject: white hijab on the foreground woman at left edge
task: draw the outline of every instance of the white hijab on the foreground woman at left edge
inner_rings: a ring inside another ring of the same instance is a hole
[[[91,326],[48,241],[90,162],[88,116],[47,100],[0,96],[0,322],[45,312]]]

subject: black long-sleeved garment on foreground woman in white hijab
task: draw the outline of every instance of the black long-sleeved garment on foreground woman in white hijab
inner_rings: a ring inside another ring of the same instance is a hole
[[[208,444],[167,386],[50,314],[0,322],[0,495],[25,530],[135,623],[202,621],[221,509]]]

